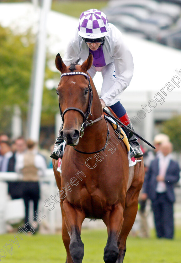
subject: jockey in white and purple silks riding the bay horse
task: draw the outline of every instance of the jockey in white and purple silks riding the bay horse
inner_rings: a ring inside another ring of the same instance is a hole
[[[79,26],[67,46],[64,63],[69,66],[80,58],[79,64],[82,64],[88,58],[89,52],[93,55],[93,65],[88,73],[93,78],[98,71],[103,77],[100,94],[102,108],[109,106],[120,121],[133,130],[128,114],[119,99],[132,79],[133,58],[120,31],[113,24],[108,24],[106,15],[97,9],[90,9],[80,15]],[[63,140],[60,131],[51,153],[54,159],[62,158],[60,144]],[[132,132],[124,131],[131,146],[131,157],[143,156],[136,136]]]

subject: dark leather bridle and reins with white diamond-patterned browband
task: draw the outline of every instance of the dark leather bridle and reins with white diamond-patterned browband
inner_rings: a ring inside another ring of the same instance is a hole
[[[100,121],[104,118],[104,112],[103,114],[95,119],[95,120],[88,120],[88,117],[89,115],[92,116],[92,113],[91,113],[91,107],[92,107],[92,102],[93,102],[93,90],[92,90],[92,87],[91,87],[91,84],[90,84],[90,77],[88,74],[84,73],[84,72],[81,72],[81,71],[77,71],[77,72],[67,72],[67,73],[63,73],[61,74],[61,78],[64,77],[64,76],[71,76],[71,75],[83,75],[84,77],[87,78],[89,84],[88,84],[88,91],[89,91],[89,103],[88,103],[88,109],[86,111],[86,113],[84,113],[81,109],[79,108],[75,108],[75,107],[68,107],[67,109],[65,109],[63,112],[61,111],[61,107],[60,107],[60,103],[59,103],[59,109],[60,109],[60,115],[61,115],[61,118],[62,118],[62,121],[64,121],[64,115],[67,111],[78,111],[82,116],[83,116],[83,124],[81,126],[81,129],[80,129],[80,137],[82,138],[83,135],[84,135],[84,129],[87,127],[87,126],[91,126],[93,125],[94,122],[97,122],[97,121]],[[61,79],[60,78],[60,79]],[[106,120],[106,119],[105,119]],[[107,121],[106,121],[107,123]],[[108,123],[107,123],[107,126],[108,126]],[[79,150],[77,150],[74,146],[73,148],[77,151],[77,152],[80,152],[80,153],[85,153],[85,154],[90,154],[90,153],[97,153],[97,152],[100,152],[102,151],[103,149],[105,149],[107,143],[108,143],[108,140],[109,140],[109,127],[108,127],[108,131],[107,131],[107,138],[106,138],[106,143],[105,143],[105,146],[99,150],[99,151],[96,151],[96,152],[81,152]]]

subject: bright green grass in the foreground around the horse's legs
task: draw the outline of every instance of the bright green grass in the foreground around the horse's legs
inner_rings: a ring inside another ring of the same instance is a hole
[[[15,234],[14,234],[15,235]],[[65,263],[66,252],[61,235],[22,235],[17,237],[19,248],[13,244],[12,255],[7,252],[4,263]],[[106,245],[105,230],[83,229],[82,241],[85,254],[84,263],[103,263],[103,250]],[[9,240],[15,240],[13,234],[1,235],[0,250],[4,250]],[[181,229],[176,230],[174,240],[158,240],[152,235],[150,239],[128,237],[124,263],[180,263]],[[10,246],[7,245],[8,248]],[[0,256],[3,256],[0,251]]]

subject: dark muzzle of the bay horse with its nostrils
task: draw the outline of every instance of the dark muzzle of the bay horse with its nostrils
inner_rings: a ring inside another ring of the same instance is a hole
[[[66,141],[67,145],[77,145],[79,142],[79,131],[78,130],[64,130],[62,129],[61,137],[64,141]]]

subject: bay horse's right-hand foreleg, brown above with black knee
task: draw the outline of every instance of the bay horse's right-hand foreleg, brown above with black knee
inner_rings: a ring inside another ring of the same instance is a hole
[[[104,262],[115,263],[119,255],[118,236],[123,224],[122,205],[114,205],[112,211],[105,215],[103,221],[108,231],[108,240],[104,248]]]

